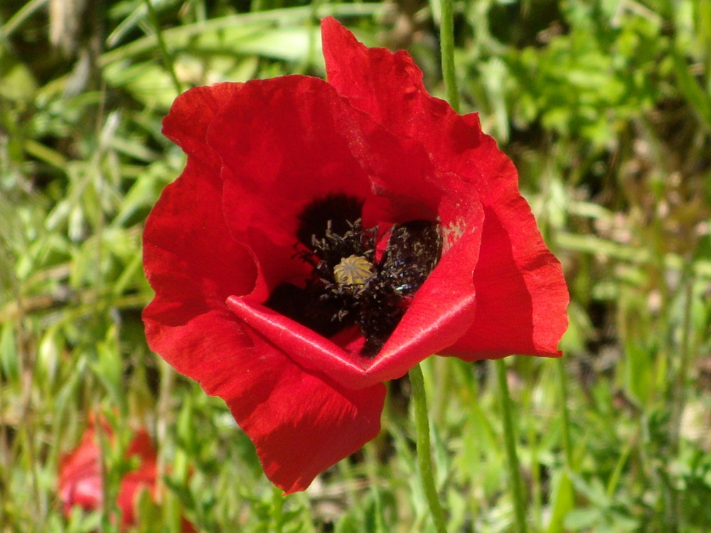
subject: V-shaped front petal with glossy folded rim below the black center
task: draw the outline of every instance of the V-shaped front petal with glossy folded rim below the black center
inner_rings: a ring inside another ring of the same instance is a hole
[[[474,319],[475,286],[473,272],[479,257],[483,211],[466,183],[456,177],[441,176],[439,206],[444,222],[447,253],[415,294],[402,321],[377,357],[360,355],[360,345],[338,345],[306,326],[296,323],[251,296],[228,298],[237,318],[269,338],[289,357],[314,372],[351,389],[401,377],[432,353],[444,350],[461,338]],[[445,186],[446,185],[446,186]]]

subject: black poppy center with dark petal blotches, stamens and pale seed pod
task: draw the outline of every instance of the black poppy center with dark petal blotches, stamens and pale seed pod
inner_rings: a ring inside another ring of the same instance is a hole
[[[311,276],[304,289],[277,286],[266,305],[326,337],[358,325],[365,338],[361,354],[373,357],[439,262],[442,239],[429,220],[396,224],[376,261],[378,228],[363,228],[362,206],[332,195],[306,207],[296,257],[311,265]]]

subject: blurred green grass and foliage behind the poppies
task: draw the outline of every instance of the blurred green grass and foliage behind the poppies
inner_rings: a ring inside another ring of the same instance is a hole
[[[711,531],[711,2],[456,1],[464,112],[520,171],[570,286],[565,357],[508,358],[533,532]],[[438,0],[3,0],[0,531],[112,530],[61,513],[89,414],[159,446],[139,531],[429,532],[407,379],[380,436],[282,499],[224,404],[149,351],[141,230],[181,151],[178,90],[323,76],[319,18],[405,48],[442,96]],[[491,365],[424,365],[451,532],[513,531]],[[318,444],[315,443],[315,446]],[[110,505],[109,505],[110,507]]]

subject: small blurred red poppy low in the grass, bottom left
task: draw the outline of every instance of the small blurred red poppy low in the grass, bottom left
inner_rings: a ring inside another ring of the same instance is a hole
[[[111,439],[112,431],[102,424],[102,431]],[[85,431],[79,446],[60,460],[59,495],[67,517],[75,506],[85,511],[99,510],[104,499],[101,475],[101,448],[94,424]],[[121,480],[117,505],[121,510],[121,530],[134,526],[137,521],[136,505],[142,490],[149,490],[156,499],[156,450],[148,433],[137,431],[126,451],[126,458],[138,459],[136,469],[127,472]],[[193,533],[190,522],[183,520],[182,531]]]

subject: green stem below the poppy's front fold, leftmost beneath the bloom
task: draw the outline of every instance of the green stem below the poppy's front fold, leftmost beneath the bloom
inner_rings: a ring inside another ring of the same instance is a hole
[[[427,397],[424,394],[424,376],[419,365],[410,369],[410,386],[412,387],[412,404],[415,407],[415,429],[417,431],[417,463],[419,476],[422,479],[424,495],[427,497],[429,512],[432,513],[434,527],[437,533],[447,533],[444,521],[444,511],[439,504],[439,495],[434,486],[432,475],[432,452],[429,448],[429,419],[427,418]]]

